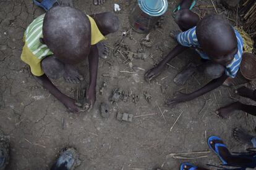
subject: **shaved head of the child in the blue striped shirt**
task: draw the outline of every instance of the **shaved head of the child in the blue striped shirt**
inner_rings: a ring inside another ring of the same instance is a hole
[[[233,27],[221,15],[207,15],[197,23],[198,43],[213,62],[228,65],[237,53]]]

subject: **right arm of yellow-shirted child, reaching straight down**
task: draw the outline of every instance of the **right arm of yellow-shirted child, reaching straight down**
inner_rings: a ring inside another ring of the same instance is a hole
[[[86,95],[87,95],[87,101],[89,102],[88,104],[90,105],[90,108],[92,108],[96,100],[95,88],[96,88],[98,62],[99,62],[98,48],[96,45],[91,47],[88,60],[89,60],[89,69],[90,69],[90,84],[89,84]]]

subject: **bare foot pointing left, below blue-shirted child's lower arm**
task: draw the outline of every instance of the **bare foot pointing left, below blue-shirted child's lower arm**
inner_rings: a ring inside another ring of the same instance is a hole
[[[240,106],[240,102],[231,103],[230,105],[227,105],[226,107],[219,108],[216,110],[216,115],[223,119],[228,119],[231,113],[235,110],[237,110]]]

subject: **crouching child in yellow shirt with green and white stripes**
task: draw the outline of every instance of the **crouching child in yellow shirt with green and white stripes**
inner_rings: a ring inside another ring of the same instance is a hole
[[[74,64],[88,57],[90,84],[86,97],[92,108],[96,100],[98,58],[106,53],[100,41],[118,28],[118,18],[109,12],[90,17],[72,7],[55,6],[28,26],[21,59],[43,87],[70,111],[77,112],[75,100],[62,94],[50,79],[63,77],[68,83],[79,83],[83,77]]]

